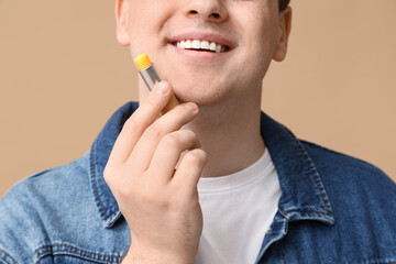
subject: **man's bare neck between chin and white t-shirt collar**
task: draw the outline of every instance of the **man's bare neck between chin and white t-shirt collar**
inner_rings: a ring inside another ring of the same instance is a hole
[[[208,154],[202,177],[239,172],[264,154],[265,145],[260,133],[261,89],[257,94],[253,100],[200,106],[198,117],[185,125],[197,134],[201,148]]]

